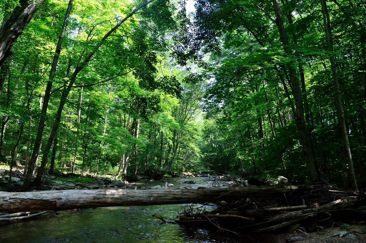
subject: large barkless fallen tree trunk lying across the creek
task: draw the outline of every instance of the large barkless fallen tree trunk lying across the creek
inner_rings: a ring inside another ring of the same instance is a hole
[[[303,188],[303,187],[301,187]],[[271,197],[293,192],[298,186],[237,187],[220,189],[163,190],[53,190],[0,192],[0,212],[66,210],[132,205],[164,205],[228,201],[247,197]]]

